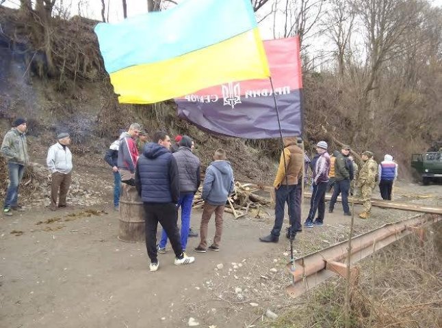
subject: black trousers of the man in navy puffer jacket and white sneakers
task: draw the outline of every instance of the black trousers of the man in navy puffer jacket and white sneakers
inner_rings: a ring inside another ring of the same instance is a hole
[[[144,221],[146,221],[146,249],[151,262],[157,260],[157,227],[161,224],[169,237],[170,244],[177,258],[183,254],[178,232],[178,210],[174,203],[143,203]]]

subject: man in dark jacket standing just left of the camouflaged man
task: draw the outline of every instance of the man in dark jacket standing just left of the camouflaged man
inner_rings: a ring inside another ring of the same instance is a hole
[[[348,159],[350,146],[342,146],[341,152],[337,154],[335,161],[335,186],[330,199],[328,213],[333,213],[337,197],[341,194],[343,215],[351,216],[348,206],[348,193],[350,193],[350,181],[353,180],[353,165]]]

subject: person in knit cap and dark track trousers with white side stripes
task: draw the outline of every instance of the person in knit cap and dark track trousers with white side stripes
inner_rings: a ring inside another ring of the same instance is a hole
[[[317,154],[313,157],[313,161],[311,161],[313,192],[311,193],[309,216],[304,223],[304,226],[307,228],[324,225],[325,195],[328,184],[328,171],[330,170],[330,155],[327,149],[328,144],[326,141],[318,142],[316,144]],[[317,218],[315,219],[316,210]]]

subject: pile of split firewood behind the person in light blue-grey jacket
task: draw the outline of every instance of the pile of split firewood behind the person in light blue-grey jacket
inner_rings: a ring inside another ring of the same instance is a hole
[[[232,213],[235,219],[246,215],[255,218],[268,217],[265,207],[272,205],[272,200],[257,195],[255,192],[260,189],[256,184],[235,182],[235,191],[226,202],[226,212]],[[204,200],[201,198],[201,190],[202,187],[198,189],[194,197],[193,208],[203,207]]]

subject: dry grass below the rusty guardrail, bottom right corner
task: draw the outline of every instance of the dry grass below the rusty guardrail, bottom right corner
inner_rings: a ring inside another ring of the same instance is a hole
[[[442,223],[428,230],[423,245],[414,234],[361,263],[352,290],[351,327],[442,327]],[[303,297],[261,327],[344,327],[345,282],[336,278]]]

